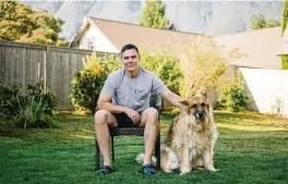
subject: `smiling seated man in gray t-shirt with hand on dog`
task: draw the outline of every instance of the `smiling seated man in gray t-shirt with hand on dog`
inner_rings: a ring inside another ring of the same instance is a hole
[[[145,126],[144,174],[155,174],[152,164],[153,150],[158,135],[158,111],[149,107],[151,93],[157,93],[171,105],[183,109],[182,100],[170,91],[152,72],[140,68],[140,53],[134,45],[121,50],[123,69],[112,72],[106,79],[98,98],[95,113],[95,134],[104,158],[104,165],[97,173],[112,171],[109,155],[108,127]]]

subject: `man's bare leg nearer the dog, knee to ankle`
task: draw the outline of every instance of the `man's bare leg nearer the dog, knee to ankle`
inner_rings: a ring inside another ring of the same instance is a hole
[[[144,143],[145,143],[145,156],[144,164],[152,163],[153,150],[158,136],[158,111],[154,108],[147,108],[141,115],[140,126],[145,126]]]

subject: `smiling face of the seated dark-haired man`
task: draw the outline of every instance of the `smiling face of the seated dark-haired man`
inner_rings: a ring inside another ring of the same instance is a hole
[[[129,72],[133,72],[139,68],[140,57],[135,49],[129,49],[122,52],[122,62]]]

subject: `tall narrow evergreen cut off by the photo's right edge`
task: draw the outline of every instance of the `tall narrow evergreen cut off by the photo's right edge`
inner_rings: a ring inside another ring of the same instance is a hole
[[[288,23],[288,1],[284,1],[283,14],[281,14],[281,37],[285,34],[286,26]],[[283,54],[281,57],[281,69],[288,70],[288,54]]]

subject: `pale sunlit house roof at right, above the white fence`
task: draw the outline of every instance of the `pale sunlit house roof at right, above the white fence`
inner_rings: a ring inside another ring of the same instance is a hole
[[[280,32],[281,28],[278,26],[218,36],[215,37],[215,41],[218,45],[225,45],[226,49],[229,50],[239,48],[239,52],[249,56],[230,60],[230,64],[259,69],[280,69],[281,61],[277,56],[283,42]]]

